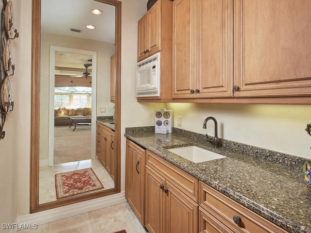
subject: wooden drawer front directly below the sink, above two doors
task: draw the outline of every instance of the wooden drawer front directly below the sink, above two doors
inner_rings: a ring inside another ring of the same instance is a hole
[[[198,180],[187,172],[173,166],[153,152],[147,150],[146,163],[158,172],[165,174],[165,179],[173,182],[192,200],[198,201]]]

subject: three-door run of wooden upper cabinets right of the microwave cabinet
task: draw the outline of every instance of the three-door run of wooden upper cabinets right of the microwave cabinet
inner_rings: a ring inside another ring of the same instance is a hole
[[[173,99],[311,96],[310,12],[310,0],[174,0]]]

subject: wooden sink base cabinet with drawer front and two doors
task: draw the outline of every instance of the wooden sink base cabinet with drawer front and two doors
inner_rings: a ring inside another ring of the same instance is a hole
[[[145,173],[145,227],[148,231],[197,233],[197,179],[148,150]]]

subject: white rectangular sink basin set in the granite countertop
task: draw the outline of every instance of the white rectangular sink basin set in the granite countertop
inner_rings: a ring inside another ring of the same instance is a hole
[[[205,150],[196,146],[179,147],[168,150],[185,159],[192,161],[193,163],[201,163],[209,160],[226,158],[224,155],[209,150]]]

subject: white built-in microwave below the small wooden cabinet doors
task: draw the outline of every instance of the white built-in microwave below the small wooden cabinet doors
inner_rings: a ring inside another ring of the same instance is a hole
[[[160,96],[160,53],[140,62],[136,67],[136,97]]]

